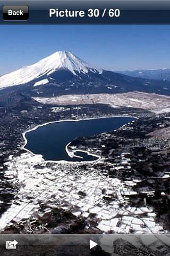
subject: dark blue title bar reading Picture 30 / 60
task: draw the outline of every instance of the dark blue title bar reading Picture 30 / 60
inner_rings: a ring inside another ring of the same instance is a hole
[[[27,5],[29,19],[4,19],[4,5]],[[1,1],[0,11],[0,24],[170,24],[170,1],[11,0]]]

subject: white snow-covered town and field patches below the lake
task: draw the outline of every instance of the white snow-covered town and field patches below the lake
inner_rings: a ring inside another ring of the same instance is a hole
[[[12,158],[6,165],[5,176],[12,180],[17,176],[16,182],[21,187],[13,204],[0,219],[1,230],[13,222],[29,219],[31,215],[35,221],[38,217],[43,218],[43,214],[50,216],[53,209],[60,206],[76,217],[86,218],[85,229],[96,232],[163,233],[163,227],[155,221],[152,207],[129,205],[128,196],[137,194],[132,186],[139,181],[121,182],[107,178],[92,166],[90,172],[81,173],[81,164],[47,164],[41,156],[29,153]],[[108,203],[104,197],[111,196],[114,201]],[[39,211],[40,204],[46,205],[43,212]],[[30,221],[31,226],[33,220]]]

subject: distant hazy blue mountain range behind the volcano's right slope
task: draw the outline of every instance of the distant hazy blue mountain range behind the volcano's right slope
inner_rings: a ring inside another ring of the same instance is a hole
[[[170,81],[170,69],[163,68],[163,69],[141,69],[141,70],[133,70],[133,71],[118,71],[120,74],[134,76],[134,77],[141,77],[141,78],[148,78],[148,79],[156,79],[162,81]]]

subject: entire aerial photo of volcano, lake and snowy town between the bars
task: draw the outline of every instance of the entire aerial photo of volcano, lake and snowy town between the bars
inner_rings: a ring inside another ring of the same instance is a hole
[[[170,26],[0,33],[0,234],[170,234]]]

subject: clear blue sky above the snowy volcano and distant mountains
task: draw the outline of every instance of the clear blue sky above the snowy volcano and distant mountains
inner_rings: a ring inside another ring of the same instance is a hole
[[[170,25],[1,25],[0,75],[55,51],[108,70],[170,68]]]

